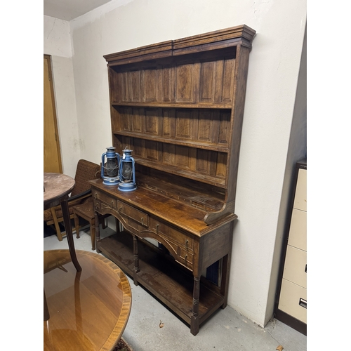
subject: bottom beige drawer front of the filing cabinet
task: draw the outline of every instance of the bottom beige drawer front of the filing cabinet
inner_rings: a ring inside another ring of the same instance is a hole
[[[290,314],[292,317],[307,324],[307,308],[299,305],[300,298],[307,301],[307,289],[282,279],[280,291],[279,310]]]

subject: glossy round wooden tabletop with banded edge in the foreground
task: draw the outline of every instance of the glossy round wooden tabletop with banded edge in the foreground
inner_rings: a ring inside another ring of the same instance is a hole
[[[77,250],[76,270],[68,250],[44,251],[44,288],[50,319],[44,350],[113,350],[131,311],[131,286],[120,268],[98,253]]]

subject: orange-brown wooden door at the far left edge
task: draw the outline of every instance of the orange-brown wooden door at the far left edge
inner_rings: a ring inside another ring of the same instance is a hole
[[[62,173],[49,55],[44,55],[44,172]]]

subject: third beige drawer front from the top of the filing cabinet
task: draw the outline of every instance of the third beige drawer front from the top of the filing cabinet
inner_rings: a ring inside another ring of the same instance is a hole
[[[289,246],[286,249],[283,278],[307,288],[306,251]]]

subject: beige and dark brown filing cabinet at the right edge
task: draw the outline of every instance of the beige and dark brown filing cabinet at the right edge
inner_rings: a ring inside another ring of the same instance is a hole
[[[307,163],[296,164],[275,317],[307,334]]]

